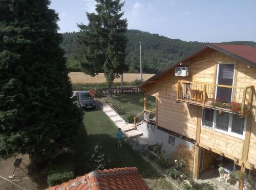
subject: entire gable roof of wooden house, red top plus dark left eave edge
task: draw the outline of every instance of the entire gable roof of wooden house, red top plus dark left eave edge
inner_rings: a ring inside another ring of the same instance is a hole
[[[168,72],[170,69],[173,69],[174,67],[176,67],[180,63],[185,62],[186,60],[190,59],[191,57],[196,56],[198,53],[202,52],[203,50],[205,50],[207,48],[211,48],[211,49],[215,49],[217,51],[220,51],[220,52],[224,53],[227,56],[230,56],[234,59],[237,59],[241,62],[244,62],[245,64],[248,64],[248,65],[256,68],[256,48],[253,48],[249,45],[211,43],[211,44],[205,45],[204,47],[192,52],[187,57],[185,57],[185,58],[179,60],[178,62],[170,65],[165,70],[157,73],[156,75],[152,76],[151,78],[148,78],[145,82],[140,84],[138,86],[138,88],[143,87],[148,82],[158,78],[162,74]]]

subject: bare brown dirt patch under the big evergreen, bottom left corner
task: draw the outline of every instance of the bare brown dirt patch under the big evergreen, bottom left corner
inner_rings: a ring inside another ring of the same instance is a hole
[[[16,158],[22,158],[22,161],[25,165],[30,165],[30,159],[28,155],[17,155],[15,157],[10,157],[6,160],[0,160],[0,176],[8,179],[9,176],[12,175],[14,170],[13,164]],[[28,169],[23,164],[21,164],[20,167],[28,173]],[[15,177],[9,180],[26,190],[41,190],[48,187],[48,184],[46,182],[46,174],[46,171],[35,171],[32,170],[31,167],[29,167],[28,174],[18,169],[14,173]],[[0,190],[7,189],[20,190],[19,187],[0,178]]]

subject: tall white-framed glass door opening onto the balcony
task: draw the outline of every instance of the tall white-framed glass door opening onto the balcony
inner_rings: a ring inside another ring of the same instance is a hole
[[[219,64],[217,74],[217,85],[233,86],[234,64]],[[217,87],[216,99],[231,102],[232,88]]]

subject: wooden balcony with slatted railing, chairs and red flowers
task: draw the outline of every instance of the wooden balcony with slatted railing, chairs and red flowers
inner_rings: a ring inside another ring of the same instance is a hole
[[[251,110],[253,88],[179,80],[177,101],[247,116]]]

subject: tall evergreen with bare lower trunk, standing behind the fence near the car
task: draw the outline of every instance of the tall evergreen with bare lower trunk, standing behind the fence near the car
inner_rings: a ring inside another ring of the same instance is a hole
[[[78,24],[81,48],[78,60],[81,68],[91,76],[104,72],[106,83],[111,88],[114,79],[124,70],[127,20],[122,18],[124,3],[120,0],[95,0],[96,14],[87,13],[88,25]],[[109,91],[111,95],[111,91]]]

